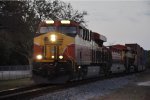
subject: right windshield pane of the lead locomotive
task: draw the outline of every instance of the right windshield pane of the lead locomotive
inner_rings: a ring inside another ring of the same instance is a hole
[[[59,27],[59,31],[69,36],[75,36],[77,33],[76,27],[68,27],[68,26]]]

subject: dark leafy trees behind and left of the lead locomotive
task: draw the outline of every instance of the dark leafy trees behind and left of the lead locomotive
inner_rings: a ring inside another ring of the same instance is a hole
[[[0,25],[8,27],[12,52],[19,53],[31,64],[34,33],[45,19],[69,19],[85,23],[85,11],[74,10],[59,0],[0,1]]]

